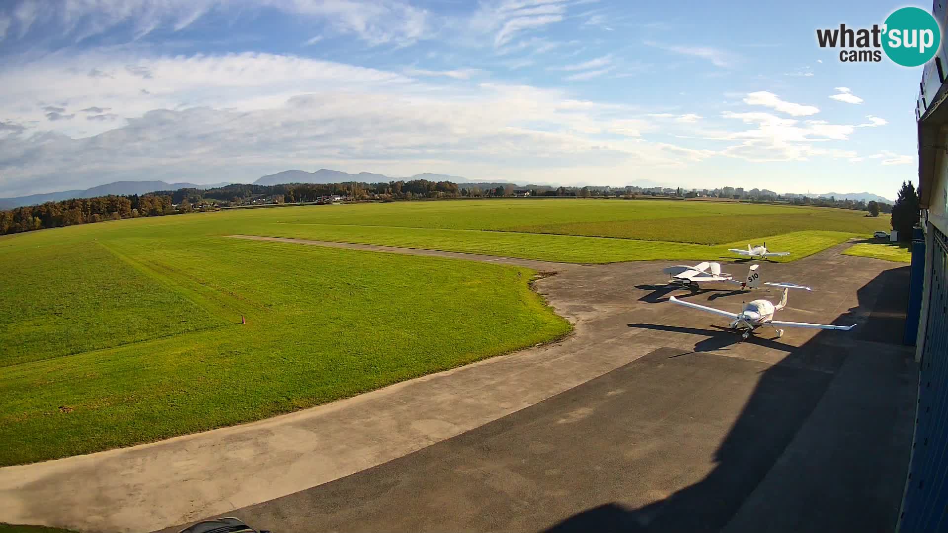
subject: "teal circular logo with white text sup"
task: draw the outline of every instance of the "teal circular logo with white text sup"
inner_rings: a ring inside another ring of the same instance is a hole
[[[927,63],[941,45],[939,23],[924,9],[896,9],[885,19],[883,32],[885,55],[902,66]]]

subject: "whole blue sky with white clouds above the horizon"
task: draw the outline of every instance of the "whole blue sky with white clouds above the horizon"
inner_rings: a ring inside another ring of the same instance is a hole
[[[815,35],[903,6],[7,0],[0,196],[328,168],[892,198],[921,67]]]

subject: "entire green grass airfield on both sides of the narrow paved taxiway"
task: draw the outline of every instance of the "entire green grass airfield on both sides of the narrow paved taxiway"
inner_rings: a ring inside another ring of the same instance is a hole
[[[530,290],[528,269],[228,235],[608,263],[714,260],[760,240],[793,260],[887,225],[818,208],[483,200],[194,213],[0,238],[0,466],[281,414],[570,328]]]

